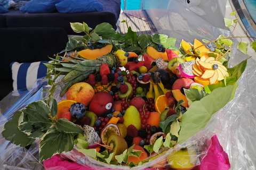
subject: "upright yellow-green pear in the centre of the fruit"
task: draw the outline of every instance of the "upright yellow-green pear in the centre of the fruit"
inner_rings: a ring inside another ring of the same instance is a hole
[[[136,129],[141,129],[140,113],[136,107],[130,106],[129,108],[127,108],[123,118],[123,124],[126,126],[126,128],[132,124],[135,126]]]

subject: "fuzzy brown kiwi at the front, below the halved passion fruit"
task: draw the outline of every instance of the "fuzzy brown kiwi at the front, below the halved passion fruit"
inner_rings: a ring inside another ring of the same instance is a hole
[[[115,156],[122,154],[128,148],[124,138],[118,134],[111,134],[106,145],[111,147],[111,149],[106,148],[108,153],[111,154],[115,152]],[[115,156],[112,158],[112,160],[115,160]]]

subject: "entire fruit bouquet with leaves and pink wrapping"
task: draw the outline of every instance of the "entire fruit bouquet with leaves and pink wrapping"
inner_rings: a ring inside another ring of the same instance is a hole
[[[37,143],[49,169],[56,157],[92,169],[230,168],[215,133],[249,60],[229,67],[231,35],[177,47],[175,38],[137,36],[130,27],[125,36],[108,23],[71,27],[85,36],[70,38],[46,64],[51,88],[14,113],[6,140]],[[237,48],[246,54],[247,45]]]

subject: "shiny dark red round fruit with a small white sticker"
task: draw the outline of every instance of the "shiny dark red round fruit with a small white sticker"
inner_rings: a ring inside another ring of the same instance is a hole
[[[110,111],[113,103],[114,99],[108,92],[97,92],[89,105],[89,111],[95,113],[99,117],[104,112]]]

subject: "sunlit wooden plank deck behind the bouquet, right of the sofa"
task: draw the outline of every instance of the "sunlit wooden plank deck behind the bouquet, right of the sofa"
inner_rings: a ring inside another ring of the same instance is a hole
[[[125,35],[128,30],[126,23],[122,22],[123,20],[127,21],[128,26],[132,28],[132,31],[137,32],[137,35],[157,33],[154,23],[145,10],[124,10],[120,14],[119,31],[121,35]]]

